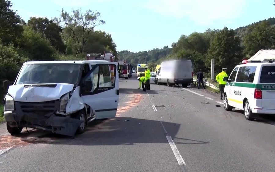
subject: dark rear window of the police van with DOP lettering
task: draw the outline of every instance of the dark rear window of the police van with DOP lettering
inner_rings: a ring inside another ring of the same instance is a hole
[[[275,66],[263,66],[260,83],[275,83]]]

